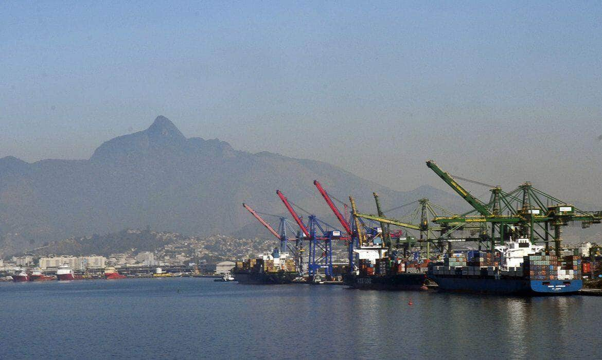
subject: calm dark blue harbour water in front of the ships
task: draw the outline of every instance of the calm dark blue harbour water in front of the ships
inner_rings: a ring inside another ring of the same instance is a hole
[[[0,358],[602,354],[602,297],[520,299],[181,278],[3,282],[0,299]]]

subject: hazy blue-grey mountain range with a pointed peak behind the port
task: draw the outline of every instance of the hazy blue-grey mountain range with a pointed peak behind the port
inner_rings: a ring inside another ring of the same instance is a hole
[[[421,197],[446,207],[461,205],[459,197],[426,185],[394,191],[320,161],[251,154],[225,141],[187,138],[159,116],[144,131],[101,144],[88,160],[1,158],[0,255],[75,235],[146,226],[193,235],[267,237],[241,203],[284,214],[277,189],[334,223],[314,179],[338,199],[355,196],[369,213],[375,212],[372,191],[385,208]]]

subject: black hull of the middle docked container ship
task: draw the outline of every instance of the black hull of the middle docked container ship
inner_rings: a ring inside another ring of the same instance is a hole
[[[402,273],[386,276],[343,275],[345,285],[360,290],[423,290],[426,275]]]

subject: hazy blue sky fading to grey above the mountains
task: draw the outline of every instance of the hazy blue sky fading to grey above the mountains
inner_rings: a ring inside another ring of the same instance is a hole
[[[600,39],[595,1],[5,1],[0,158],[89,158],[163,115],[396,190],[445,188],[433,159],[602,204]]]

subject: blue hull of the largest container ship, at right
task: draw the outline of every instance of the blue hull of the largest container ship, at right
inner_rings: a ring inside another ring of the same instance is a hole
[[[582,280],[530,280],[485,276],[430,275],[439,285],[439,291],[506,295],[574,294],[583,286]]]

